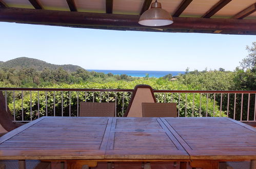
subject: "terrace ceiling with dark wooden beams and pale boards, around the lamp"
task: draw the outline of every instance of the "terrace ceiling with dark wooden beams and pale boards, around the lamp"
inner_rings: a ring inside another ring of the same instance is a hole
[[[255,0],[159,0],[174,23],[137,22],[152,0],[0,0],[0,22],[109,30],[256,35]]]

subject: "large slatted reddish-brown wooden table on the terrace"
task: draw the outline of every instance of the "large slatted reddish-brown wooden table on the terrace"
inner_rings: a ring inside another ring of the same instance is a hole
[[[1,159],[68,161],[256,160],[256,130],[229,118],[41,117],[0,138]]]

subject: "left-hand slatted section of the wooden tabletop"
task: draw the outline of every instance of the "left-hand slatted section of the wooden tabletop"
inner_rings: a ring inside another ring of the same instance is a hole
[[[103,159],[111,121],[108,117],[43,117],[4,139],[0,159]]]

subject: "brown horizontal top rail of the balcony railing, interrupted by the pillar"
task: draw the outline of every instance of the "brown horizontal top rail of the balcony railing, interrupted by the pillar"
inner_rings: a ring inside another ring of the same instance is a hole
[[[133,89],[0,88],[0,91],[132,92]],[[153,90],[155,93],[255,93],[256,91]]]

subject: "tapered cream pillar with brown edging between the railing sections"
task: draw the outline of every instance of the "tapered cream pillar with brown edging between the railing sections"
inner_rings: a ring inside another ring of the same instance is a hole
[[[142,117],[142,102],[156,102],[153,89],[149,85],[135,86],[124,117]]]

